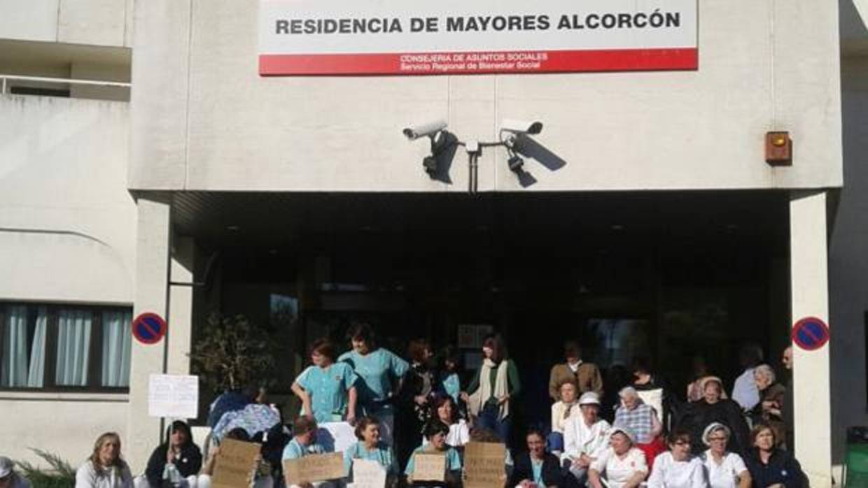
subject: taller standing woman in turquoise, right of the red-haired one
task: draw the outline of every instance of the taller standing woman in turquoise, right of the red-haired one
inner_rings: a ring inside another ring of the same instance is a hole
[[[352,350],[338,358],[358,375],[359,407],[365,415],[380,420],[380,437],[391,444],[395,431],[393,398],[400,390],[410,365],[385,348],[378,348],[374,334],[366,323],[353,325],[348,333]]]

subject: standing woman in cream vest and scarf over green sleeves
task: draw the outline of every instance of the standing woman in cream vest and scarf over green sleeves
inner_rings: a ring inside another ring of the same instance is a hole
[[[478,426],[494,431],[510,445],[510,405],[522,389],[516,363],[510,360],[506,343],[499,334],[489,335],[483,342],[483,364],[463,394],[470,413],[477,417]]]

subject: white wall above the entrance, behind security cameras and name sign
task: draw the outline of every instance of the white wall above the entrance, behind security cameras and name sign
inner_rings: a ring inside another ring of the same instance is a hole
[[[402,127],[446,118],[494,140],[537,119],[567,162],[530,190],[810,188],[841,184],[838,4],[700,2],[695,72],[262,78],[258,2],[136,4],[129,185],[137,189],[465,191],[428,179]],[[795,140],[766,166],[766,131]],[[518,190],[503,150],[480,190]]]

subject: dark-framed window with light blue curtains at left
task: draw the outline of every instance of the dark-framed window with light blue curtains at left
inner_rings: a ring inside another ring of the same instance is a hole
[[[131,320],[122,307],[0,303],[0,388],[127,389]]]

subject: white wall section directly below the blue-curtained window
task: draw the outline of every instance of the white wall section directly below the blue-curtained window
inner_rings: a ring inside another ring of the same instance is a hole
[[[0,411],[3,456],[34,465],[46,464],[31,447],[77,467],[93,452],[101,433],[116,432],[122,442],[127,439],[126,394],[0,392]]]

